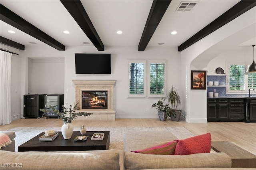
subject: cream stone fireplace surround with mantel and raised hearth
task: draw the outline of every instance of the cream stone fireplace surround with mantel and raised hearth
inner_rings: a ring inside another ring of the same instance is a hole
[[[89,117],[77,117],[74,120],[115,121],[114,85],[116,80],[72,80],[75,85],[75,101],[82,108],[83,91],[107,91],[107,109],[80,109],[93,113]]]

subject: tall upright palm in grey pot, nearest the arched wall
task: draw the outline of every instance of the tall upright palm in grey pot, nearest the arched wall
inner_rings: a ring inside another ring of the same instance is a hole
[[[180,121],[180,116],[182,110],[177,110],[177,107],[181,103],[180,95],[175,87],[172,86],[172,88],[169,90],[167,95],[168,102],[170,105],[174,108],[174,112],[176,113],[176,117],[171,116],[172,121]]]

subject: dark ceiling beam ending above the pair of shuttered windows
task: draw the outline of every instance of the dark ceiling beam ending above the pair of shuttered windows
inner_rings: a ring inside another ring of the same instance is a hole
[[[144,51],[172,0],[154,0],[148,14],[138,51]]]

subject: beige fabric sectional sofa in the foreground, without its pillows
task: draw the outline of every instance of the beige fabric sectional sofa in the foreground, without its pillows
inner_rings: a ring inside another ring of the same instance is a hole
[[[124,150],[79,152],[9,152],[0,150],[1,170],[135,170],[135,169],[234,169],[225,153],[150,155],[130,151],[177,139],[170,132],[126,132]],[[243,169],[243,168],[238,168]]]

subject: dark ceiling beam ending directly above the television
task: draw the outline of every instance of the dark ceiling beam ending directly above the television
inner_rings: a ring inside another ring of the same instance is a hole
[[[100,36],[95,30],[88,14],[86,13],[84,6],[80,0],[60,0],[64,7],[68,10],[70,15],[74,18],[76,23],[80,26],[86,36],[98,49],[98,51],[104,51],[104,45],[100,40]]]

